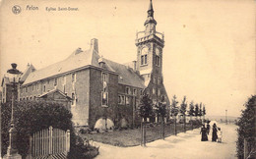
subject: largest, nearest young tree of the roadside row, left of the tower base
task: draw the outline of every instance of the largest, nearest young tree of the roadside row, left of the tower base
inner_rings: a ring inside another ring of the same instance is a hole
[[[146,126],[144,122],[147,121],[147,118],[153,116],[153,102],[147,93],[145,93],[141,99],[139,115],[141,116],[141,133],[142,133],[142,145],[146,146]]]

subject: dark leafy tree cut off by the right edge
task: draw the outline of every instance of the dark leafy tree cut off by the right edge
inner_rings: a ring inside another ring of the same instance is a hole
[[[251,158],[256,157],[256,95],[253,95],[250,98],[248,98],[244,106],[245,109],[242,110],[241,116],[236,124],[238,126],[238,129],[236,130],[238,133],[238,139],[236,141],[236,154],[239,159],[247,157],[244,156],[244,140],[248,142],[248,149],[245,148],[248,150],[248,154],[252,155],[254,152],[254,156],[251,156]]]

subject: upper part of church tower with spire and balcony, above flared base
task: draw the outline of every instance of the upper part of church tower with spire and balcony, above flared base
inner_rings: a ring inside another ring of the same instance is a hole
[[[145,30],[136,34],[137,71],[145,79],[158,77],[162,79],[162,48],[164,35],[157,31],[157,21],[154,19],[152,0],[148,9],[148,17],[144,23]]]

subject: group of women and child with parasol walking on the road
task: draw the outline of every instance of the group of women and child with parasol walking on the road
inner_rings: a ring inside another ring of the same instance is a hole
[[[202,125],[201,128],[201,141],[207,141],[208,140],[208,135],[210,133],[211,130],[211,126],[210,126],[210,122],[207,123],[207,127],[205,127],[205,125]],[[216,124],[213,125],[213,131],[212,131],[212,141],[216,142],[222,142],[222,138],[223,138],[223,132],[221,131],[221,128],[218,128]]]

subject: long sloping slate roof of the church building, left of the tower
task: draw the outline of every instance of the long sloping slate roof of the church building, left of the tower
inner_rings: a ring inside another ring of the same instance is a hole
[[[67,59],[50,65],[46,68],[32,72],[25,80],[24,85],[30,84],[40,79],[47,79],[87,66],[94,66],[99,68],[99,58],[101,58],[101,60],[105,63],[104,69],[110,72],[117,73],[119,75],[119,83],[145,88],[144,80],[131,68],[102,58],[93,49],[82,51],[80,48],[74,51]]]

